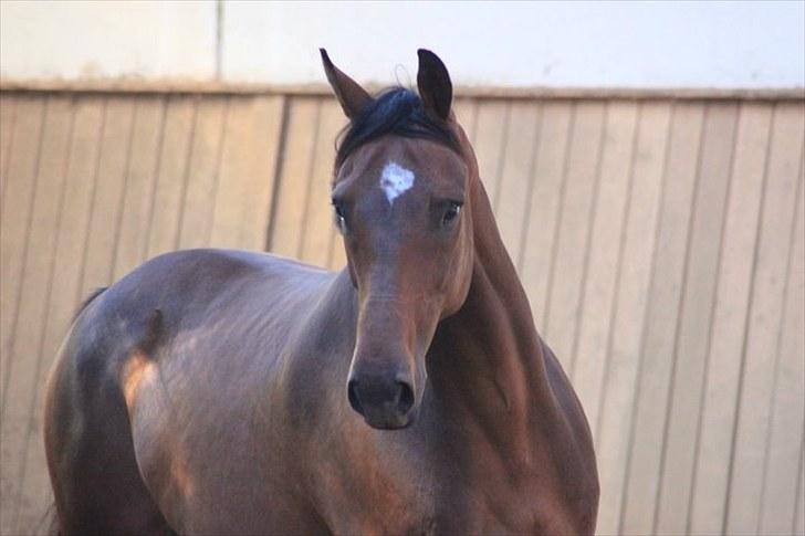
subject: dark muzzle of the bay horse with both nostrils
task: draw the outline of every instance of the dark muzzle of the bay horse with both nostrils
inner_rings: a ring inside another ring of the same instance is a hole
[[[394,430],[414,422],[414,386],[402,375],[353,374],[347,396],[353,409],[373,428]]]

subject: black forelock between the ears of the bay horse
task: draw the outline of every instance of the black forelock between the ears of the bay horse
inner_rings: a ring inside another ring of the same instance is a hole
[[[339,136],[336,169],[364,144],[387,134],[406,138],[425,138],[459,153],[459,143],[447,123],[425,113],[422,101],[410,90],[391,87],[380,93],[346,126]]]

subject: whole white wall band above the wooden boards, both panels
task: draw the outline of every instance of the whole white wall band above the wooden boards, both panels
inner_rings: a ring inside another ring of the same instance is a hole
[[[805,86],[805,2],[0,2],[6,78],[408,83],[430,48],[464,85]],[[220,59],[216,57],[216,50]]]

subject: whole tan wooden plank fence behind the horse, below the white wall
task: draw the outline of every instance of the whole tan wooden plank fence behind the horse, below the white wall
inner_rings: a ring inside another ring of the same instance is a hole
[[[802,99],[457,103],[583,400],[600,534],[805,532]],[[331,97],[0,93],[0,532],[50,503],[42,386],[76,305],[164,251],[337,269]]]

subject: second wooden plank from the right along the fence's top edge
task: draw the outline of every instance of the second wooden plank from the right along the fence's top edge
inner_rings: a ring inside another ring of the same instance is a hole
[[[688,530],[720,533],[726,494],[730,443],[734,420],[735,390],[750,307],[752,259],[757,241],[757,222],[763,196],[764,169],[771,136],[771,107],[741,108],[728,200],[724,239],[718,272],[718,287],[709,357],[703,376],[702,402],[696,438],[694,467],[690,491],[671,492],[665,501],[690,508],[684,516]],[[687,505],[690,506],[687,506]],[[666,517],[675,517],[667,506]],[[682,506],[680,506],[682,507]],[[678,522],[675,526],[682,526]]]

